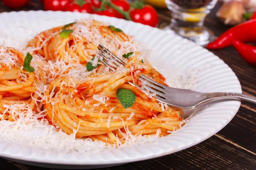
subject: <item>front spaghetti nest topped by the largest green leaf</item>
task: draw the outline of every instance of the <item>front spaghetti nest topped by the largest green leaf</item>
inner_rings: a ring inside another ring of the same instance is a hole
[[[116,142],[116,135],[125,137],[127,129],[134,135],[155,134],[158,129],[160,135],[166,135],[168,130],[179,128],[181,111],[169,107],[163,109],[154,97],[150,98],[137,87],[127,84],[132,80],[129,69],[106,73],[103,68],[103,65],[97,68],[96,74],[77,83],[76,87],[66,86],[69,79],[51,82],[46,95],[49,98],[51,94],[55,95],[52,102],[45,105],[48,120],[66,133],[77,129],[77,137],[87,136],[108,143]],[[143,70],[141,73],[144,74]],[[116,91],[120,88],[129,89],[137,96],[131,108],[125,109],[117,99]]]

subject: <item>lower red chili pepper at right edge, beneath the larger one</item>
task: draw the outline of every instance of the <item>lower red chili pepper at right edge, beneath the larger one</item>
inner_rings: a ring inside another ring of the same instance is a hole
[[[245,61],[256,65],[256,46],[239,41],[234,41],[233,45]]]

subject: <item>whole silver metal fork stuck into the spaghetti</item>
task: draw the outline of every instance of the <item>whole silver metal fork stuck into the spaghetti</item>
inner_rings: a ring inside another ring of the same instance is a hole
[[[99,44],[98,46],[100,61],[111,71],[116,71],[116,68],[120,65],[125,66],[119,57],[116,57],[111,51]],[[211,104],[213,102],[220,102],[224,100],[244,100],[247,102],[252,102],[256,104],[256,97],[248,96],[245,94],[239,93],[201,93],[192,90],[171,88],[166,85],[162,85],[154,80],[146,77],[145,75],[140,75],[139,79],[141,81],[147,82],[143,85],[143,89],[146,89],[152,93],[155,93],[154,96],[157,101],[166,103],[172,108],[179,109],[196,109],[203,104]],[[132,82],[129,82],[131,85],[134,85]],[[134,85],[135,86],[135,85]]]

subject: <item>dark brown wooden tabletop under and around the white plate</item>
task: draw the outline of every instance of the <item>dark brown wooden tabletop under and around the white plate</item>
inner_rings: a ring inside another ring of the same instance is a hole
[[[212,10],[205,25],[219,36],[229,27],[221,23],[215,13],[220,4]],[[19,10],[42,10],[39,0],[30,2]],[[0,2],[0,12],[12,11]],[[160,23],[168,24],[170,12],[158,10]],[[244,30],[245,31],[245,30]],[[243,93],[256,96],[256,67],[245,62],[234,48],[212,51],[224,60],[236,73]],[[7,161],[0,158],[1,170],[46,170]],[[256,170],[256,105],[242,102],[232,121],[211,138],[175,154],[157,159],[124,164],[106,170]]]

